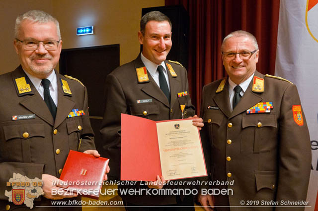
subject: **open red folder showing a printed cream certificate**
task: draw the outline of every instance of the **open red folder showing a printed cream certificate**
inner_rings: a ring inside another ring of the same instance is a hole
[[[200,133],[192,119],[153,121],[121,114],[121,180],[207,176]]]

